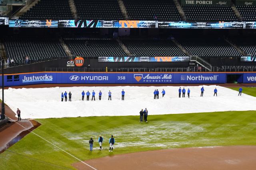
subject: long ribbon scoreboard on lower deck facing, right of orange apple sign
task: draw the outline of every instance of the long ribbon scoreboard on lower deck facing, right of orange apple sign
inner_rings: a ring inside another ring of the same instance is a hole
[[[189,57],[98,57],[98,62],[184,62]]]

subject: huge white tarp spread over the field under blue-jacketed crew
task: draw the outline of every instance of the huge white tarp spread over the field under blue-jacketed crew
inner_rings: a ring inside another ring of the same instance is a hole
[[[115,87],[65,87],[65,88],[9,88],[5,90],[6,104],[16,112],[21,110],[22,118],[87,117],[139,115],[141,109],[148,109],[148,115],[198,113],[213,111],[256,110],[256,98],[221,86],[204,86],[204,97],[200,97],[202,86],[184,86],[190,88],[190,98],[178,98],[177,86],[115,86]],[[214,88],[218,97],[214,97]],[[154,100],[154,90],[162,89],[166,95]],[[183,87],[182,87],[183,88]],[[125,91],[125,100],[121,100],[121,91]],[[82,90],[91,93],[90,101],[82,101]],[[96,101],[91,101],[92,90],[96,92]],[[98,92],[102,91],[102,100]],[[112,92],[112,101],[108,101],[108,91]],[[72,93],[72,102],[61,102],[61,92]],[[0,91],[1,92],[1,91]]]

